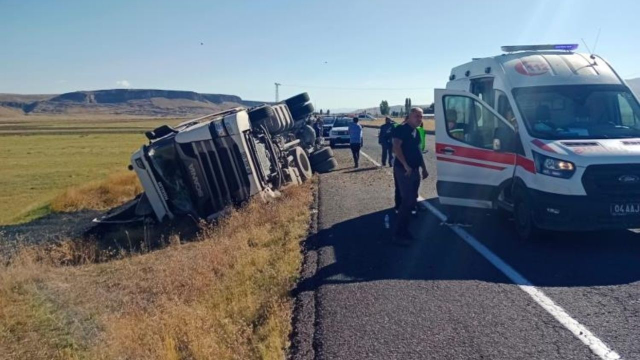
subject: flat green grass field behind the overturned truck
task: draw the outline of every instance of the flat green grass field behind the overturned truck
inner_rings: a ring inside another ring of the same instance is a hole
[[[0,225],[47,214],[65,189],[124,170],[144,131],[176,119],[0,118]]]

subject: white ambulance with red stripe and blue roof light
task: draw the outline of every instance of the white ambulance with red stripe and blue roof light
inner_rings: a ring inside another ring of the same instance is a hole
[[[441,204],[513,211],[522,238],[640,227],[638,99],[575,49],[507,46],[451,71],[435,90]]]

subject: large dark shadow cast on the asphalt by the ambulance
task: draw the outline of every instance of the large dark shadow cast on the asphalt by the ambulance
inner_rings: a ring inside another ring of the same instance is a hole
[[[438,205],[437,199],[429,202]],[[395,215],[388,209],[345,220],[317,233],[309,246],[319,253],[332,250],[335,262],[300,282],[296,291],[385,279],[511,283],[431,213],[418,215],[413,233],[420,240],[406,248],[390,243],[385,215],[393,224]],[[640,235],[632,231],[556,233],[522,241],[508,218],[485,212],[468,215],[473,225],[465,230],[536,286],[640,281]]]

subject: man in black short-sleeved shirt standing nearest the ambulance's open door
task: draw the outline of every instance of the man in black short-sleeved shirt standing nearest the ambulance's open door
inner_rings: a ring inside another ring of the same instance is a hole
[[[420,151],[420,135],[416,130],[422,122],[422,109],[411,108],[406,123],[394,131],[393,149],[396,154],[394,177],[400,190],[401,202],[398,210],[394,241],[408,244],[413,240],[409,232],[409,222],[413,208],[417,203],[420,187],[419,168],[422,168],[422,179],[429,176]]]

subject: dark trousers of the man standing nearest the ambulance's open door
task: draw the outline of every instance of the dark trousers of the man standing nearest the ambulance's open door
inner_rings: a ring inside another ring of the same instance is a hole
[[[396,224],[396,236],[410,236],[409,223],[411,211],[418,201],[418,189],[420,188],[420,169],[414,168],[410,176],[406,176],[403,167],[394,167],[394,177],[397,188],[402,196]]]

